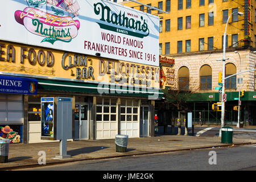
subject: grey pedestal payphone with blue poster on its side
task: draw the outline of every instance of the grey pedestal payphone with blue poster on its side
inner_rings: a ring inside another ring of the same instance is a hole
[[[67,139],[72,139],[72,98],[41,98],[41,139],[60,140],[60,155],[56,158],[69,158]]]

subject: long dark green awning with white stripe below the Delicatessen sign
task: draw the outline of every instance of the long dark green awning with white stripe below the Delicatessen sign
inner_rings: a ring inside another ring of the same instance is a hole
[[[90,84],[86,82],[56,81],[38,79],[39,90],[55,90],[62,92],[79,92],[94,94],[110,94],[120,96],[148,97],[156,100],[163,97],[162,90],[158,88],[135,88],[109,84]]]

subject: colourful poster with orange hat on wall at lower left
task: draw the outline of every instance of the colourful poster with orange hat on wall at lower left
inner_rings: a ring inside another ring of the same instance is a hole
[[[0,125],[0,139],[9,139],[10,143],[22,142],[22,125]]]

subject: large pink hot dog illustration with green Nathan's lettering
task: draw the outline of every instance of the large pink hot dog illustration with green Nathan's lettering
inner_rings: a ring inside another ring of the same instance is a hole
[[[23,11],[15,11],[16,22],[22,24],[32,34],[43,36],[42,42],[56,40],[71,42],[78,34],[79,20],[73,20],[71,16],[57,16],[46,13],[34,7],[26,7]]]

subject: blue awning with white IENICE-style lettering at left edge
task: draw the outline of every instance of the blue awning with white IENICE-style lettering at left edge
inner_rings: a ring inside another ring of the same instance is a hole
[[[0,93],[32,94],[38,91],[38,80],[35,78],[0,75]]]

